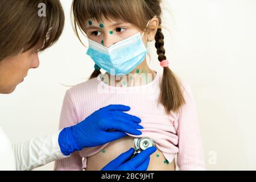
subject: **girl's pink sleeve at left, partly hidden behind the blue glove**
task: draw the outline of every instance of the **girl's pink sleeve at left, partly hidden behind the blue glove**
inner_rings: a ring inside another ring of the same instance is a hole
[[[69,91],[66,92],[63,106],[60,114],[59,129],[76,125],[78,123],[76,108],[69,95]],[[69,158],[57,160],[55,162],[54,170],[56,171],[81,171],[82,170],[82,158],[79,152],[73,152]]]

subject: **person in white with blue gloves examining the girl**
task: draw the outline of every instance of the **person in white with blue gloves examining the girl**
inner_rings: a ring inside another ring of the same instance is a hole
[[[41,5],[46,7],[43,16],[39,12]],[[63,27],[64,13],[59,0],[0,1],[1,94],[14,92],[27,76],[28,70],[39,67],[38,52],[52,46],[59,39]],[[72,152],[82,148],[112,142],[126,136],[126,133],[140,135],[138,129],[143,128],[139,125],[141,119],[125,113],[128,110],[129,106],[109,105],[95,111],[75,126],[64,128],[48,137],[38,137],[15,145],[10,144],[0,127],[0,169],[30,170],[54,160],[68,158]],[[155,150],[155,147],[148,148],[128,160],[134,152],[134,149],[130,149],[103,169],[146,170],[150,155]]]

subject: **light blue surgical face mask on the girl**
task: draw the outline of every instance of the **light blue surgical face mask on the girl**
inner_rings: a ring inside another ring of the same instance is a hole
[[[150,21],[148,21],[148,24]],[[104,69],[110,75],[127,75],[133,71],[145,59],[148,50],[144,46],[141,33],[121,40],[111,47],[89,40],[89,49],[86,52],[98,67]]]

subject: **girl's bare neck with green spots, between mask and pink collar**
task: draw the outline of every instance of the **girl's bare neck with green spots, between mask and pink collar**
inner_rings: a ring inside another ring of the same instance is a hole
[[[101,80],[110,86],[131,87],[146,85],[155,78],[156,72],[150,69],[146,59],[132,72],[125,76],[114,76],[108,72],[101,75]]]

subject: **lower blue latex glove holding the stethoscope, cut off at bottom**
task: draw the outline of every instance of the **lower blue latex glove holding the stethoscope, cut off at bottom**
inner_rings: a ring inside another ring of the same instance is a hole
[[[134,153],[134,148],[119,155],[107,164],[102,171],[146,171],[150,162],[150,155],[156,151],[156,147],[149,147],[129,160]],[[128,160],[128,161],[127,161]]]

